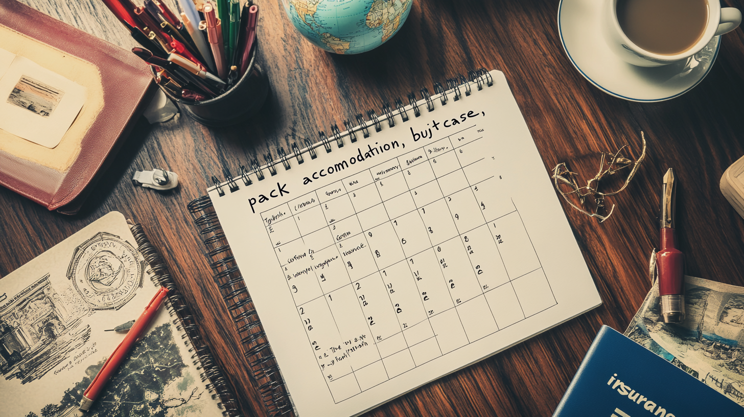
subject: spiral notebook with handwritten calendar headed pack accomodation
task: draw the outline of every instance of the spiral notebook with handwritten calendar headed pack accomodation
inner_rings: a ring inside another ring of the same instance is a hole
[[[356,416],[600,305],[504,74],[469,76],[190,203],[272,414]]]

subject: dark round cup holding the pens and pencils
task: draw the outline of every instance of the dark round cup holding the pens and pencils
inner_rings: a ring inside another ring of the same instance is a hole
[[[179,104],[191,118],[206,126],[222,127],[238,124],[256,114],[269,95],[269,79],[256,63],[258,42],[251,52],[246,73],[222,95],[205,101],[190,101],[176,97],[161,87],[171,100]],[[155,69],[152,69],[153,76]]]

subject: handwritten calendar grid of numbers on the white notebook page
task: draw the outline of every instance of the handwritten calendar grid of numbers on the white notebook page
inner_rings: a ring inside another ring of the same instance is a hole
[[[336,404],[557,305],[483,132],[261,213]]]

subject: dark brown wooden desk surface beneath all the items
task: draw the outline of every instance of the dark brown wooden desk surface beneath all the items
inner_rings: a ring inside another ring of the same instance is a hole
[[[10,1],[10,0],[2,0]],[[24,0],[62,21],[124,48],[134,44],[99,0]],[[170,3],[170,1],[167,1]],[[744,9],[743,0],[725,3]],[[661,176],[679,177],[679,246],[687,273],[744,285],[744,220],[719,191],[719,179],[744,155],[744,34],[723,36],[710,74],[671,101],[640,104],[591,86],[568,61],[557,31],[557,0],[416,1],[389,42],[357,56],[327,54],[289,23],[280,1],[260,2],[260,66],[272,89],[256,118],[231,128],[208,128],[185,115],[150,126],[144,119],[118,158],[73,217],[48,212],[0,189],[0,276],[72,235],[108,211],[144,224],[235,383],[246,416],[264,416],[248,383],[234,326],[211,284],[202,243],[186,204],[201,196],[212,174],[292,141],[317,141],[357,112],[379,109],[420,86],[485,67],[504,71],[545,162],[596,157],[629,143],[638,132],[648,156],[618,197],[605,223],[563,203],[603,305],[473,366],[379,407],[369,416],[549,416],[574,376],[591,340],[606,324],[623,331],[650,288],[647,259],[657,246]],[[135,170],[170,168],[181,185],[170,194],[135,188]]]

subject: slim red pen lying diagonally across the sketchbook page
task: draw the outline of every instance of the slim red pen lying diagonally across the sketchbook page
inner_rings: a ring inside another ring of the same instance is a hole
[[[103,367],[98,371],[95,378],[93,378],[88,389],[83,392],[83,399],[80,401],[80,410],[90,410],[93,401],[95,401],[96,398],[98,398],[98,395],[100,395],[100,392],[103,391],[103,386],[106,385],[112,375],[114,375],[117,369],[119,369],[119,366],[124,362],[126,355],[129,354],[129,351],[132,350],[135,343],[144,336],[147,327],[151,322],[153,322],[153,319],[155,319],[158,308],[160,308],[167,293],[168,290],[165,287],[160,287],[158,293],[155,293],[153,299],[150,300],[150,303],[144,308],[144,312],[135,321],[132,328],[129,329],[124,340],[119,343],[119,346],[117,346],[114,353],[109,356],[109,359],[106,359],[106,362],[103,363]]]

